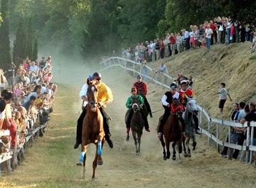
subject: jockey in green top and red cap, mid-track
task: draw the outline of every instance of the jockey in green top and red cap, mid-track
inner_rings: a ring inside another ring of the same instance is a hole
[[[133,102],[133,98],[137,98],[139,99],[139,108],[142,109],[142,106],[144,105],[144,101],[143,101],[143,97],[141,97],[141,95],[137,95],[137,89],[136,87],[132,87],[131,88],[131,96],[128,97],[127,102],[126,102],[126,107],[129,108],[129,114],[128,114],[128,118],[127,118],[127,134],[130,132],[130,127],[131,127],[131,118],[133,116],[133,109],[131,109],[131,103]],[[141,116],[144,120],[144,124],[145,124],[145,129],[147,132],[150,132],[150,126],[148,125],[148,119],[146,117],[146,115],[143,113],[143,110],[139,110],[139,112],[141,113]]]

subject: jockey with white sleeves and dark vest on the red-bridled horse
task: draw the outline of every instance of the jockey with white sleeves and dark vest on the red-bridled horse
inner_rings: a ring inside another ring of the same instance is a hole
[[[170,116],[172,99],[179,99],[179,101],[181,101],[181,95],[176,91],[176,89],[177,89],[177,84],[171,83],[170,91],[167,91],[166,93],[164,93],[164,96],[162,97],[162,106],[164,107],[164,115],[162,117],[162,120],[160,120],[160,125],[158,129],[158,139],[161,139],[164,124],[166,123],[168,117]],[[183,126],[183,138],[186,139],[187,137],[185,136],[185,122],[182,117],[179,118],[179,120]]]

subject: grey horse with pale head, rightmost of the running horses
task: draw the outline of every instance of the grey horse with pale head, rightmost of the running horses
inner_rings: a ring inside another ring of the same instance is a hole
[[[191,157],[191,150],[189,148],[189,141],[193,140],[193,150],[195,150],[195,146],[197,142],[195,140],[195,122],[193,120],[193,115],[197,115],[197,106],[196,101],[192,97],[185,97],[186,109],[183,112],[183,120],[185,122],[185,134],[187,136],[187,140],[183,140],[184,147],[184,156]],[[187,148],[187,149],[186,149]]]

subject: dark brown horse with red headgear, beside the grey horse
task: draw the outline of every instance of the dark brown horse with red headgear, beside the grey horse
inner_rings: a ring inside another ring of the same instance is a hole
[[[163,152],[164,160],[170,158],[169,147],[170,147],[170,142],[172,142],[172,149],[173,149],[172,160],[176,160],[175,146],[177,146],[177,148],[179,150],[178,160],[179,160],[179,162],[181,161],[183,127],[182,127],[182,124],[181,124],[179,118],[181,118],[182,113],[183,113],[183,105],[181,104],[181,102],[179,100],[174,99],[172,102],[172,111],[171,111],[166,123],[164,124],[164,128],[163,128],[163,135],[165,138],[165,142],[164,142],[163,136],[160,138],[160,142],[161,142],[162,148],[164,150],[164,152]],[[158,121],[158,129],[160,126],[160,120],[162,119],[162,116],[159,118],[159,121]],[[167,149],[167,154],[166,154],[165,146]]]

